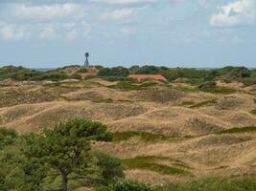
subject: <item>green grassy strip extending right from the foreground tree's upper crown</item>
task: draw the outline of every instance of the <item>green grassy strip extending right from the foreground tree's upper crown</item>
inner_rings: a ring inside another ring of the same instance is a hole
[[[160,135],[160,134],[153,134],[153,133],[149,133],[149,132],[127,131],[127,132],[114,133],[113,141],[119,142],[122,140],[128,140],[129,138],[134,138],[134,137],[139,137],[146,142],[167,141],[167,140],[178,139],[178,138],[173,138],[173,137],[167,137],[167,136]]]

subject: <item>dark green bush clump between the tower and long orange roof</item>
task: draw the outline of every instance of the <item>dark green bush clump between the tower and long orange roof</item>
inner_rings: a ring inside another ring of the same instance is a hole
[[[114,67],[114,68],[103,68],[100,69],[98,75],[99,76],[120,76],[126,77],[128,76],[128,69],[124,67]]]

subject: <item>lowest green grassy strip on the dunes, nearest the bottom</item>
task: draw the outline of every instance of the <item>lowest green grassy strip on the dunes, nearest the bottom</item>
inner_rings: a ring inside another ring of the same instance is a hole
[[[121,159],[121,162],[123,164],[124,169],[143,169],[143,170],[150,170],[154,171],[163,175],[185,175],[188,174],[188,172],[184,169],[160,164],[157,163],[161,160],[172,160],[169,158],[161,158],[161,157],[136,157],[132,159]],[[174,161],[174,160],[173,160]],[[176,162],[180,163],[179,166],[185,166],[184,163],[179,162],[176,160]]]

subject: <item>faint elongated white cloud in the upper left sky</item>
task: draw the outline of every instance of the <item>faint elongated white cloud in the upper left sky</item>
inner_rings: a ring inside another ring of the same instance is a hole
[[[12,14],[22,19],[47,21],[78,15],[79,11],[81,11],[81,6],[71,3],[53,5],[16,4]]]

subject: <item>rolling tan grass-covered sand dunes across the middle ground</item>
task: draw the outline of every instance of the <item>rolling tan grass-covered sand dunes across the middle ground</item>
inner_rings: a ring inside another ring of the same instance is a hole
[[[148,182],[256,174],[254,87],[218,84],[235,90],[225,95],[178,82],[130,90],[116,85],[90,79],[1,86],[0,126],[24,133],[74,117],[102,121],[117,138],[95,147],[129,164],[166,167],[127,166],[130,178]]]

